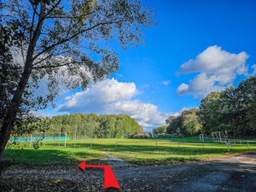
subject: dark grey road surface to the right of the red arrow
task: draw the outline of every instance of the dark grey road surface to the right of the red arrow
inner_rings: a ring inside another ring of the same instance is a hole
[[[122,187],[131,191],[255,192],[256,152],[203,163],[117,170],[115,174]]]

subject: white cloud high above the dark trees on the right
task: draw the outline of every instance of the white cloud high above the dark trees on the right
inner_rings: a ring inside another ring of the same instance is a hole
[[[237,75],[248,75],[247,53],[231,54],[217,45],[208,47],[195,60],[189,60],[180,67],[177,75],[199,73],[189,84],[180,84],[177,95],[194,94],[206,96],[212,91],[224,90],[233,83]]]

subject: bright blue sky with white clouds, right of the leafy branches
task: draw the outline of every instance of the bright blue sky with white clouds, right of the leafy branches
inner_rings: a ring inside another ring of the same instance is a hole
[[[198,108],[211,91],[236,87],[256,73],[256,1],[143,2],[159,22],[143,29],[146,45],[124,50],[112,44],[119,54],[116,74],[85,92],[66,90],[56,108],[39,113],[127,113],[149,131]]]

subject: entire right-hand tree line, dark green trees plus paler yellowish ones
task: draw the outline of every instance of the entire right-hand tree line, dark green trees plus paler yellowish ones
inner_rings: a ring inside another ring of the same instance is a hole
[[[192,136],[227,131],[234,137],[256,136],[256,77],[242,80],[237,88],[230,86],[208,94],[199,108],[171,116],[166,124],[169,134]]]

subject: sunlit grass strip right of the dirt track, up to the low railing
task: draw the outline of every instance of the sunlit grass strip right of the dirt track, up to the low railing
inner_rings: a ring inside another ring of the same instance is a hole
[[[236,148],[231,148],[230,152],[228,152],[224,143],[212,143],[211,146],[207,146],[207,148],[202,148],[201,144],[198,144],[199,145],[196,146],[197,148],[188,145],[181,145],[181,147],[178,148],[172,145],[157,147],[154,145],[137,145],[136,147],[134,144],[129,143],[129,145],[119,144],[116,148],[115,144],[94,143],[92,148],[106,151],[108,154],[118,156],[121,159],[138,165],[162,165],[212,160],[223,155],[240,154],[252,150],[245,146],[242,148],[236,146]],[[79,143],[77,148],[83,148],[83,146],[83,143]],[[253,148],[254,150],[256,149],[255,146]]]

